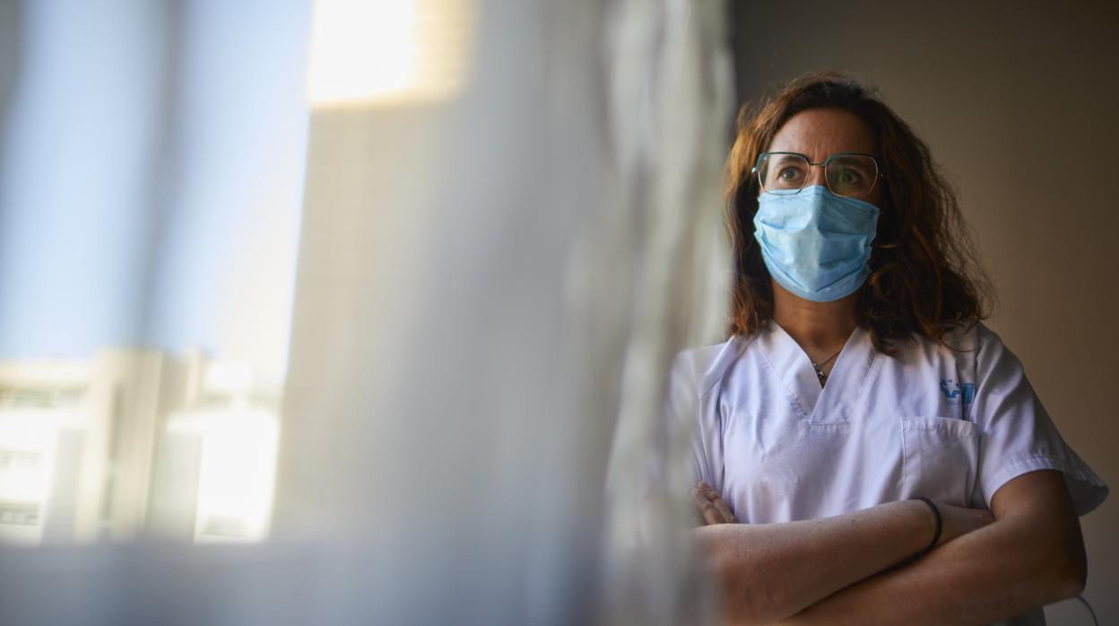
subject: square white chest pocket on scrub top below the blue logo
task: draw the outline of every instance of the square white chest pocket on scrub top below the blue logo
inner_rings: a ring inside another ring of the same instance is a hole
[[[955,418],[902,418],[902,497],[957,506],[971,501],[979,458],[976,424]]]

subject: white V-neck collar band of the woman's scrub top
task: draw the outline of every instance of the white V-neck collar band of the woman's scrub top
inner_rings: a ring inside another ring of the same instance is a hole
[[[820,387],[808,354],[784,330],[770,320],[759,330],[758,345],[784,386],[793,408],[811,423],[847,423],[877,359],[869,333],[856,326],[839,356],[827,384]]]

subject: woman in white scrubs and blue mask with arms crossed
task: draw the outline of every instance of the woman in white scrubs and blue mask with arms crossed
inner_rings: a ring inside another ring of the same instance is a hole
[[[810,75],[743,110],[726,196],[731,338],[677,357],[670,408],[698,422],[727,620],[1044,624],[1084,587],[1078,515],[1108,488],[980,323],[928,148]]]

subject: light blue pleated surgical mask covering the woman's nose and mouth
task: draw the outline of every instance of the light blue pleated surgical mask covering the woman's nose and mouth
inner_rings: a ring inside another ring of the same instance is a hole
[[[781,287],[806,300],[829,302],[866,281],[877,225],[878,207],[814,185],[797,194],[759,196],[754,239]]]

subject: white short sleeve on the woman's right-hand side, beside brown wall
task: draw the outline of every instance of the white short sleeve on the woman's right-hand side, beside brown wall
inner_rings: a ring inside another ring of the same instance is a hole
[[[1018,358],[986,326],[978,325],[977,333],[971,415],[980,429],[977,478],[986,504],[1017,476],[1056,469],[1076,514],[1088,514],[1107,498],[1108,486],[1061,438]]]

